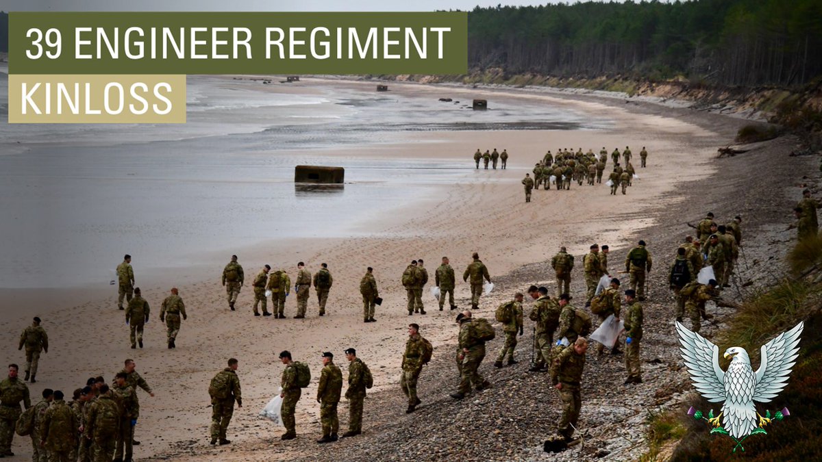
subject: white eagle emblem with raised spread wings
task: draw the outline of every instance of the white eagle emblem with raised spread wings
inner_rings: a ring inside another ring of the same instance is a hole
[[[769,419],[756,412],[754,401],[768,403],[787,386],[791,368],[799,353],[799,335],[803,323],[783,332],[774,340],[762,345],[760,368],[754,372],[745,349],[731,347],[725,350],[725,358],[732,357],[727,372],[719,367],[719,348],[702,335],[692,332],[677,321],[680,350],[694,387],[711,403],[725,401],[722,412],[710,422],[717,426],[722,418],[723,428],[734,438],[750,435],[757,427],[769,423]]]

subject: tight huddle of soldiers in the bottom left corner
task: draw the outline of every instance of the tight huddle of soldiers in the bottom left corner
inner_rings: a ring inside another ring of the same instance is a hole
[[[132,447],[140,444],[134,441],[140,417],[136,389],[154,396],[132,359],[125,361],[112,386],[103,377],[92,377],[74,390],[69,403],[61,390],[47,388],[34,407],[17,372],[17,365],[9,364],[7,379],[0,381],[0,457],[14,455],[12,438],[22,424],[29,425],[21,434],[30,434],[36,462],[132,462]]]

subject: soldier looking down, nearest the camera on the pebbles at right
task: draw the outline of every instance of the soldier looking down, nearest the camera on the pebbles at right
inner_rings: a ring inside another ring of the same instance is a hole
[[[585,367],[586,351],[588,351],[588,340],[580,337],[574,344],[556,355],[551,368],[551,383],[556,390],[560,391],[562,401],[562,417],[556,431],[566,440],[570,440],[574,434],[574,427],[580,419],[582,408],[580,381],[582,370]]]

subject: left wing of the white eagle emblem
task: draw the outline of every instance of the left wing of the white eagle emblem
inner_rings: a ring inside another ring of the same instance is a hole
[[[677,333],[681,356],[696,390],[711,403],[724,401],[725,372],[719,367],[719,347],[702,335],[688,330],[679,321]]]

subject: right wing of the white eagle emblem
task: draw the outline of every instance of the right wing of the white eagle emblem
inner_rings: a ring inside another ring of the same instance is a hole
[[[762,345],[760,368],[756,370],[754,400],[768,403],[787,386],[791,369],[799,354],[799,335],[804,324],[800,322],[774,340]]]

